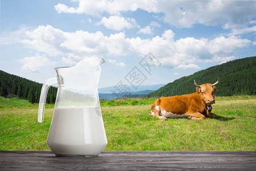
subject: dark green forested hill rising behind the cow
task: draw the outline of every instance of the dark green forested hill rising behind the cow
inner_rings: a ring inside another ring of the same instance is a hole
[[[184,76],[172,83],[168,83],[145,97],[175,96],[196,91],[196,83],[215,83],[218,91],[216,96],[256,95],[256,56],[237,59],[206,70]]]

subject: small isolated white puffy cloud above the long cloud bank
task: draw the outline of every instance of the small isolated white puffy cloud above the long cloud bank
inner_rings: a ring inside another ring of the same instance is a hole
[[[124,28],[138,27],[134,18],[124,18],[112,15],[109,18],[103,17],[98,25],[104,25],[111,30],[124,30]]]

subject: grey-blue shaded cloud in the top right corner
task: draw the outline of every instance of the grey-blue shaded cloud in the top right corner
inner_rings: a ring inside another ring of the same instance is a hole
[[[166,14],[164,21],[179,28],[192,27],[196,23],[245,26],[255,17],[255,8],[255,1],[168,1],[157,4],[157,9]]]

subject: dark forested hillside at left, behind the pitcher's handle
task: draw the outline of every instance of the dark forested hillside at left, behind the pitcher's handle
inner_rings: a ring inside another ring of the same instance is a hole
[[[27,99],[30,103],[39,103],[42,84],[11,75],[0,70],[0,96],[18,96]],[[46,103],[54,103],[57,88],[50,87]]]

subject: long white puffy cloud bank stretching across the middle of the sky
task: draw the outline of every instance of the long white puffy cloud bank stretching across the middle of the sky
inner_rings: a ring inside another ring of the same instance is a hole
[[[21,35],[23,37],[23,35]],[[226,62],[234,59],[235,51],[253,42],[239,36],[219,36],[214,39],[181,38],[174,40],[175,33],[166,30],[162,36],[151,39],[125,38],[124,32],[105,36],[102,32],[64,32],[52,26],[39,26],[26,31],[26,39],[20,41],[48,56],[61,56],[66,63],[76,63],[84,56],[145,56],[151,52],[165,67],[198,68],[196,62]],[[124,63],[108,62],[119,66]],[[37,68],[31,68],[37,70]]]

